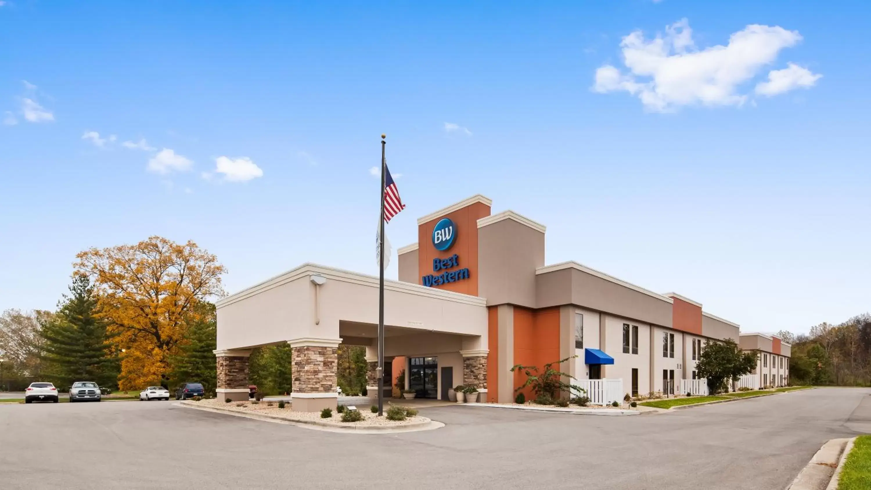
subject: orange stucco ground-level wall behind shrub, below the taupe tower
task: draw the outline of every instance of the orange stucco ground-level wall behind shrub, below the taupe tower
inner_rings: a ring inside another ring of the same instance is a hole
[[[490,351],[492,352],[492,351]],[[514,307],[514,364],[537,366],[559,360],[559,308],[530,310]],[[560,369],[559,366],[555,366]],[[490,379],[487,380],[488,389]],[[526,375],[519,369],[514,373],[514,386],[522,386]],[[535,398],[530,388],[522,390],[526,399]]]

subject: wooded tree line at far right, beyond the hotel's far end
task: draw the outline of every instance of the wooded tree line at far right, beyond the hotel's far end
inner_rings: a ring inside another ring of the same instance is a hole
[[[871,314],[840,325],[821,323],[806,334],[780,331],[792,344],[789,379],[793,384],[871,386]]]

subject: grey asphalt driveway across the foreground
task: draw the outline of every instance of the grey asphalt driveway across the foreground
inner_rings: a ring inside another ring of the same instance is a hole
[[[826,440],[871,432],[869,394],[820,388],[636,417],[436,406],[421,413],[447,426],[383,435],[172,402],[0,406],[0,487],[782,490]]]

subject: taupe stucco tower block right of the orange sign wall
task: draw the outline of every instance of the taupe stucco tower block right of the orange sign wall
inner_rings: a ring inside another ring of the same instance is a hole
[[[507,218],[479,225],[478,295],[487,305],[536,307],[536,269],[543,265],[544,232]]]

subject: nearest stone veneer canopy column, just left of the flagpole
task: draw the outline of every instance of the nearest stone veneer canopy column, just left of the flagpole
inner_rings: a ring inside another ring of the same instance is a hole
[[[336,350],[341,339],[289,340],[294,371],[294,412],[336,407]]]

